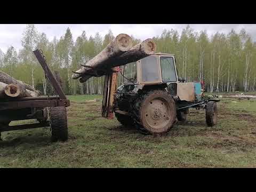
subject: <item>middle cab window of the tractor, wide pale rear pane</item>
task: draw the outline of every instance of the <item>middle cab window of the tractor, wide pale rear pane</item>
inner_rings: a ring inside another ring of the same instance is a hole
[[[142,82],[159,81],[159,66],[157,57],[151,55],[141,59]]]

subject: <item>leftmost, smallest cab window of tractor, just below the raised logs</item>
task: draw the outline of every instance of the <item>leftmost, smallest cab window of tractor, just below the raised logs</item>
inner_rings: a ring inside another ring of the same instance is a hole
[[[124,66],[124,83],[135,82],[137,82],[137,64],[131,62]]]

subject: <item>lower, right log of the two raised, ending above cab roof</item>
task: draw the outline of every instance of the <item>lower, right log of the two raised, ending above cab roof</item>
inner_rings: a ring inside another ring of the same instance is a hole
[[[98,70],[103,71],[110,71],[111,68],[117,67],[117,66],[123,66],[127,63],[135,62],[140,59],[143,59],[147,57],[148,55],[154,54],[156,51],[156,44],[152,39],[146,39],[145,41],[133,46],[130,50],[124,52],[121,55],[117,55],[116,57],[111,58],[108,61],[108,65],[102,66],[102,68],[98,68]],[[96,69],[97,70],[97,69]],[[105,73],[97,73],[93,74],[93,69],[87,68],[84,73],[91,73],[92,75],[84,75],[79,79],[79,82],[84,83],[86,82],[90,77],[92,76],[102,76],[105,75]]]

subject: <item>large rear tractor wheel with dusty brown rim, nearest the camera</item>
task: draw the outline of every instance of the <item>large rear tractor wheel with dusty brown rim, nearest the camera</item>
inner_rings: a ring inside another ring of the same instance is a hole
[[[154,90],[138,100],[139,127],[143,133],[160,134],[169,131],[176,118],[175,102],[166,91]]]

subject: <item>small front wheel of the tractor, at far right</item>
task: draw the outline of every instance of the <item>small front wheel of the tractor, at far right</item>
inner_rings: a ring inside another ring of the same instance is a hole
[[[214,126],[217,123],[218,111],[217,103],[209,101],[205,106],[205,120],[208,126]]]

